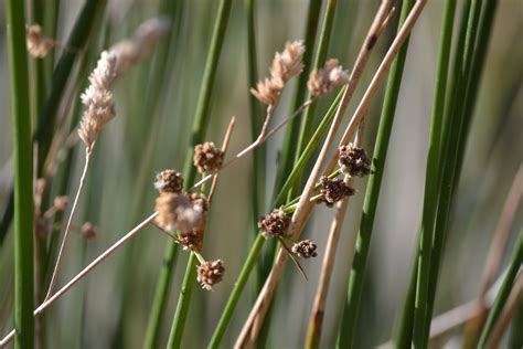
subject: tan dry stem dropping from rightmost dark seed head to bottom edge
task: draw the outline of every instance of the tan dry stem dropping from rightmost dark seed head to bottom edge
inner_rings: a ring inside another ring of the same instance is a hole
[[[354,141],[354,145],[356,147],[361,147],[363,131],[364,121],[360,124],[360,127],[357,129],[356,139]],[[345,174],[343,180],[349,187],[352,187],[353,178],[351,176]],[[329,284],[334,266],[335,250],[340,240],[341,230],[343,228],[346,210],[349,208],[349,202],[350,197],[345,197],[335,205],[335,215],[332,220],[329,237],[327,240],[325,253],[323,256],[323,262],[321,264],[320,278],[318,281],[318,289],[316,292],[314,303],[312,305],[312,310],[310,311],[309,317],[309,328],[307,331],[306,345],[308,348],[318,347],[318,345],[314,346],[313,343],[319,343],[320,341],[321,328],[323,325],[323,315],[325,311],[327,295],[329,293]]]

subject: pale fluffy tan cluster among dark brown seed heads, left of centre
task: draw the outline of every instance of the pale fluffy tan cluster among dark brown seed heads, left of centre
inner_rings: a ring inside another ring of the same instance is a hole
[[[182,235],[203,225],[206,213],[205,199],[183,193],[168,192],[156,201],[156,223],[166,231],[179,231]]]

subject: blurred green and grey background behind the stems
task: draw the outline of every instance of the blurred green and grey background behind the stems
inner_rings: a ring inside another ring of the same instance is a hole
[[[159,13],[153,0],[110,0],[99,23],[99,38],[89,44],[87,70],[104,49],[128,38],[145,20]],[[323,1],[325,2],[325,1]],[[460,4],[463,1],[458,1]],[[382,194],[374,226],[364,286],[359,329],[359,348],[371,348],[391,338],[395,317],[404,300],[412,267],[415,236],[419,226],[425,162],[437,44],[442,0],[428,1],[412,34],[396,118],[392,134]],[[62,1],[56,40],[65,41],[82,1]],[[378,1],[340,0],[329,57],[338,57],[351,68]],[[308,1],[258,1],[256,39],[258,74],[268,74],[275,51],[287,40],[305,34]],[[93,222],[99,230],[96,240],[86,242],[73,234],[67,244],[60,284],[65,283],[88,261],[103,252],[153,210],[154,174],[164,168],[183,167],[192,118],[211,41],[217,1],[193,0],[178,4],[171,33],[157,45],[148,60],[135,65],[115,83],[117,117],[103,131],[93,158],[87,187],[74,220],[79,226]],[[396,14],[398,11],[396,12]],[[457,15],[459,19],[459,14]],[[388,27],[380,39],[345,117],[354,110],[373,71],[391,42],[396,28]],[[463,171],[452,207],[446,242],[435,315],[463,304],[479,292],[488,247],[510,184],[523,159],[523,2],[500,1],[493,34],[481,78],[478,104],[467,144]],[[12,134],[9,106],[4,3],[0,1],[0,210],[7,204],[12,181]],[[246,8],[234,1],[218,73],[214,83],[211,121],[206,139],[221,142],[230,118],[236,116],[230,155],[250,141],[249,86],[247,78]],[[307,47],[313,50],[313,47]],[[58,49],[56,56],[60,55]],[[158,71],[159,55],[167,51],[168,64]],[[76,71],[79,70],[78,64]],[[75,75],[73,75],[75,76]],[[77,77],[79,78],[79,77]],[[151,81],[154,83],[151,84]],[[73,86],[72,83],[70,83]],[[290,113],[295,84],[286,89],[277,119]],[[373,101],[364,144],[372,154],[383,91]],[[60,109],[61,124],[68,125],[77,109],[77,92],[70,88]],[[334,96],[320,103],[317,120]],[[282,133],[266,146],[266,198],[269,202],[281,147]],[[83,146],[74,146],[73,174],[68,192],[77,187],[83,166]],[[61,176],[62,162],[56,177]],[[212,293],[193,294],[183,348],[202,348],[211,337],[233,284],[253,241],[250,210],[252,158],[224,170],[220,178],[207,231],[204,255],[222,258],[226,276]],[[357,193],[351,199],[345,228],[338,247],[329,293],[322,348],[335,342],[345,297],[352,246],[359,226],[365,180],[356,180]],[[270,208],[266,207],[265,211]],[[309,275],[305,282],[289,264],[275,303],[269,347],[299,348],[316,293],[322,251],[333,210],[319,208],[306,236],[314,240],[320,257],[303,262]],[[523,223],[520,207],[508,250]],[[151,307],[158,271],[162,264],[166,236],[152,228],[100,265],[82,284],[49,310],[50,348],[139,348]],[[0,332],[12,326],[12,233],[0,245]],[[162,346],[169,334],[188,254],[180,252],[174,271]],[[254,281],[252,278],[252,281]],[[253,283],[244,292],[224,347],[232,347],[255,297]],[[450,346],[451,343],[449,343]]]

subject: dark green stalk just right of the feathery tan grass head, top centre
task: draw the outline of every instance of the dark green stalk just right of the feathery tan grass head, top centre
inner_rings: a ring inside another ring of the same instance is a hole
[[[310,0],[309,9],[307,12],[306,21],[306,32],[303,44],[306,46],[306,52],[303,53],[303,71],[298,76],[297,89],[295,97],[291,104],[291,113],[298,109],[298,107],[303,103],[303,98],[307,93],[307,80],[309,78],[310,64],[312,62],[312,52],[314,49],[316,33],[318,29],[318,22],[320,18],[321,10],[321,0]],[[287,174],[292,169],[292,163],[296,157],[296,144],[298,142],[300,124],[299,119],[295,118],[287,126],[284,146],[281,149],[281,159],[278,167],[278,172],[276,174],[275,192],[279,192],[284,180],[287,178]],[[273,258],[270,258],[271,261]]]

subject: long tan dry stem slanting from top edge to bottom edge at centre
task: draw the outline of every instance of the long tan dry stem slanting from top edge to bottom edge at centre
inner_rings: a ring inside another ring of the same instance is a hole
[[[349,77],[348,87],[343,94],[341,104],[337,110],[334,119],[332,120],[331,127],[329,129],[329,133],[323,144],[323,147],[320,150],[320,155],[318,156],[318,159],[309,176],[309,179],[307,180],[307,184],[298,202],[298,207],[295,211],[295,214],[292,215],[292,220],[291,220],[290,229],[289,229],[290,235],[292,239],[297,239],[300,235],[301,230],[306,223],[306,220],[310,215],[310,212],[312,211],[312,204],[310,204],[309,199],[312,195],[314,184],[320,177],[321,168],[327,157],[327,152],[330,146],[332,145],[332,142],[334,141],[334,137],[341,124],[341,120],[343,118],[343,114],[346,107],[349,106],[349,103],[357,85],[360,76],[369,60],[370,53],[372,49],[374,47],[380,33],[383,31],[383,24],[386,23],[386,19],[388,18],[389,11],[391,11],[391,1],[389,0],[382,1],[380,9],[377,10],[376,15],[373,20],[373,23],[371,24],[369,33],[365,38],[363,46],[360,50],[356,62],[351,72],[351,76]],[[397,41],[397,38],[395,42],[396,41]],[[403,40],[402,40],[402,43],[403,43]],[[263,324],[263,319],[267,313],[268,306],[270,305],[270,300],[273,298],[276,285],[281,276],[286,261],[287,261],[287,255],[281,253],[280,251],[278,253],[276,263],[273,266],[273,271],[270,272],[264,287],[262,288],[258,295],[258,298],[255,305],[253,306],[253,309],[250,310],[250,314],[247,320],[245,321],[242,332],[239,334],[236,340],[235,348],[244,347],[249,334],[250,334],[250,341],[256,342],[259,328]],[[255,322],[256,322],[256,326],[253,326]]]

